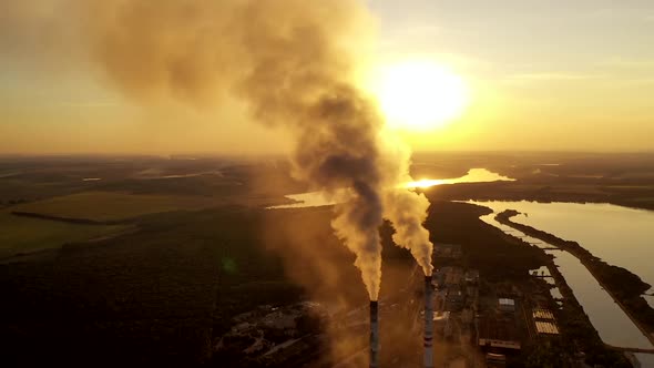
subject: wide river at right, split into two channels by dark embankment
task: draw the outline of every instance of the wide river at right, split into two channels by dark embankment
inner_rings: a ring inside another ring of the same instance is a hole
[[[575,241],[593,255],[637,274],[648,284],[654,282],[651,259],[654,247],[654,212],[633,209],[611,204],[535,203],[535,202],[470,202],[490,207],[494,214],[482,216],[493,226],[523,236],[524,234],[501,225],[494,215],[504,209],[515,209],[527,215],[512,221],[533,226],[568,241]],[[542,243],[531,237],[528,242]],[[544,244],[545,246],[549,246]],[[574,256],[562,251],[546,251],[556,258],[555,264],[565,277],[574,295],[584,307],[591,323],[604,343],[652,348],[652,345],[625,313],[602,289],[590,272]],[[650,303],[652,298],[647,297]],[[654,355],[636,354],[643,367],[654,367]]]

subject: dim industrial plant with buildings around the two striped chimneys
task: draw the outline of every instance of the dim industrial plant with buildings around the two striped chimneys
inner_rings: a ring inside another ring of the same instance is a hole
[[[367,343],[357,340],[358,349],[333,360],[334,367],[410,367],[418,359],[394,362],[385,354],[394,348],[388,346],[392,343],[385,331],[396,327],[391,324],[397,324],[397,316],[403,318],[409,338],[412,335],[417,341],[422,335],[422,354],[418,349],[415,354],[422,356],[420,364],[425,368],[505,367],[521,356],[525,346],[559,340],[556,313],[545,294],[550,286],[542,277],[530,275],[529,283],[539,287],[525,293],[518,285],[487,280],[480,270],[457,265],[458,253],[440,252],[444,258],[436,257],[436,264],[447,266],[437,267],[421,282],[420,272],[415,269],[405,294],[381,297],[367,306],[334,310],[305,301],[282,308],[257,308],[235,318],[235,326],[214,348],[218,354],[245,355],[263,366],[302,362],[327,355],[329,341],[316,334],[321,324],[349,336],[369,334]],[[367,347],[361,349],[364,344]]]

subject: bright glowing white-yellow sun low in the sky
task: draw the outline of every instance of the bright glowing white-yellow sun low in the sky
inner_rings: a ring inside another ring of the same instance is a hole
[[[430,131],[459,117],[469,103],[462,78],[430,61],[408,61],[380,68],[372,94],[388,126]]]

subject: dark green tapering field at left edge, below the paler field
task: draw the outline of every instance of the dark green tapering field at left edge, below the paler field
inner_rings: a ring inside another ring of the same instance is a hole
[[[19,253],[57,248],[65,243],[104,237],[126,229],[125,225],[78,225],[14,216],[0,212],[0,258]]]

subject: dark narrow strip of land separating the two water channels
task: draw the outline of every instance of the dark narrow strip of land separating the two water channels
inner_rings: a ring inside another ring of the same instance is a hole
[[[654,331],[654,309],[643,298],[643,294],[651,287],[648,284],[630,270],[610,265],[593,256],[576,242],[565,241],[532,226],[511,221],[511,217],[518,214],[517,211],[509,209],[498,214],[495,219],[503,225],[566,251],[576,257],[641,333],[654,345],[654,335],[652,333]]]

